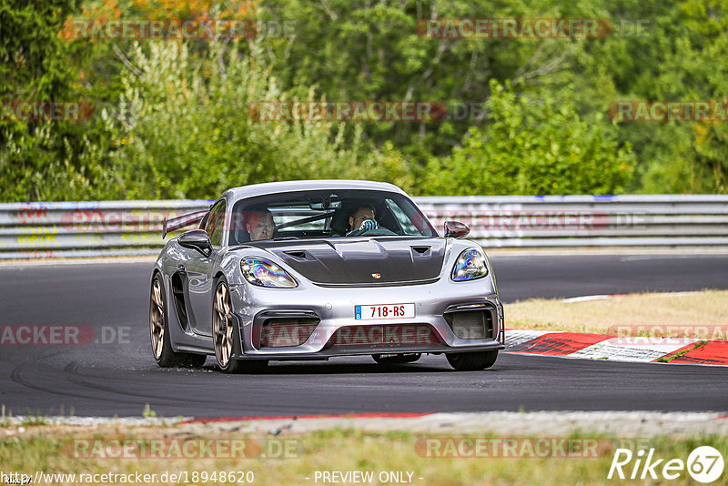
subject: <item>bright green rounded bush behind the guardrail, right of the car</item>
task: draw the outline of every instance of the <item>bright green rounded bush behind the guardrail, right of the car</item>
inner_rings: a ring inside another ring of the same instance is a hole
[[[489,123],[473,127],[452,156],[431,159],[427,194],[612,194],[629,180],[630,147],[567,102],[519,96],[491,81]]]

